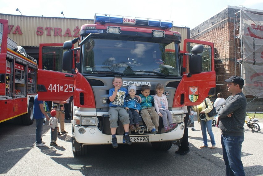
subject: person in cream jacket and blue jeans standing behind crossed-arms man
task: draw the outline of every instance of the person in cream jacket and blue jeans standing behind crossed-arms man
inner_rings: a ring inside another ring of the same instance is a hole
[[[207,106],[206,106],[207,104]],[[206,98],[201,104],[198,106],[193,106],[192,109],[197,112],[198,115],[198,123],[201,124],[201,130],[202,130],[202,135],[203,135],[203,143],[204,145],[200,146],[200,148],[206,148],[208,147],[207,145],[207,132],[210,136],[211,140],[211,148],[210,149],[215,149],[215,137],[212,132],[212,119],[214,117],[209,117],[207,113],[209,113],[213,109],[213,104],[210,101],[209,98]]]

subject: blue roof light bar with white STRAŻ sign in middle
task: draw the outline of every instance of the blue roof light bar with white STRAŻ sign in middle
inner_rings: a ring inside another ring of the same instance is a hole
[[[155,19],[137,19],[136,17],[124,17],[118,15],[103,15],[95,14],[94,18],[95,24],[105,24],[105,23],[119,23],[119,24],[131,24],[131,25],[141,25],[141,26],[153,26],[161,27],[165,29],[170,29],[173,27],[173,21],[165,20],[155,20]]]

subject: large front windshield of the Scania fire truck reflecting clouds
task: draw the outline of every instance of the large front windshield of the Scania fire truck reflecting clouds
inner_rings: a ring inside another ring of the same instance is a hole
[[[167,44],[91,39],[82,47],[82,74],[180,76],[179,54],[167,57]],[[178,52],[178,51],[175,51]],[[167,57],[167,58],[166,58]]]

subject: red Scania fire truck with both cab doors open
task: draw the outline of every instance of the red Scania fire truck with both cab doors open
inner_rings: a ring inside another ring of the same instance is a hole
[[[137,95],[144,84],[151,95],[158,83],[163,84],[173,123],[179,124],[165,133],[160,119],[153,135],[140,118],[142,129],[129,132],[132,143],[151,142],[157,150],[179,144],[186,128],[182,107],[215,94],[213,43],[187,39],[180,52],[181,34],[169,30],[171,21],[96,14],[94,22],[83,25],[80,36],[64,44],[40,44],[39,99],[73,96],[74,156],[86,154],[88,145],[111,144],[108,94],[116,75],[123,78],[123,87],[135,85]],[[119,144],[123,133],[119,125]]]

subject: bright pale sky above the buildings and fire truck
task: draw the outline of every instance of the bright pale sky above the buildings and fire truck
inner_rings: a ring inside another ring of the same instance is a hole
[[[173,26],[198,26],[227,6],[263,12],[263,0],[0,0],[0,13],[26,16],[94,19],[95,13],[173,21]],[[63,14],[61,14],[63,11]],[[234,15],[234,14],[233,14]]]

